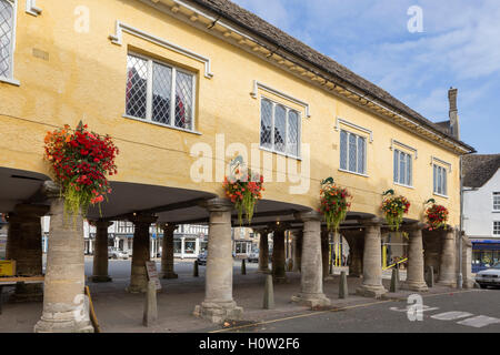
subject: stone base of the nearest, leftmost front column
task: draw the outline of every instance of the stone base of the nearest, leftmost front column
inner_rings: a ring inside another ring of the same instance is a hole
[[[34,325],[34,333],[94,333],[90,321],[77,321],[74,312],[43,313]]]

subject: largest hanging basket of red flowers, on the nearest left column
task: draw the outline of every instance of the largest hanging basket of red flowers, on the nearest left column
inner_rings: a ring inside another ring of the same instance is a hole
[[[118,148],[109,135],[89,132],[80,121],[76,131],[69,125],[48,132],[44,159],[51,164],[54,181],[61,186],[64,213],[84,217],[90,205],[99,204],[111,192],[107,175],[117,174]]]

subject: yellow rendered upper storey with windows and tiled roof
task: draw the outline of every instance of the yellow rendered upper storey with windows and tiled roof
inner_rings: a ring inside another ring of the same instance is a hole
[[[208,223],[203,201],[224,197],[240,155],[264,176],[252,226],[317,210],[329,176],[352,194],[354,223],[381,216],[390,189],[409,199],[407,222],[431,197],[460,222],[460,156],[474,150],[456,91],[434,124],[230,1],[0,0],[0,43],[3,213],[39,201],[46,133],[83,121],[120,149],[91,220]]]

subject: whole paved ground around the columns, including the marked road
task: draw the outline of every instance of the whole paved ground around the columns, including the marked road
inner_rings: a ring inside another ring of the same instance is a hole
[[[407,298],[411,292],[387,294],[391,300],[376,301],[356,295],[361,280],[348,277],[349,298],[340,300],[339,276],[334,275],[324,282],[323,288],[332,302],[331,307],[311,311],[291,303],[291,295],[300,291],[300,274],[287,273],[288,283],[274,285],[274,310],[262,310],[266,276],[256,272],[257,264],[247,264],[247,275],[241,275],[240,265],[240,261],[234,262],[233,296],[238,305],[244,308],[244,320],[229,324],[232,328],[212,325],[192,316],[194,306],[204,298],[206,272],[206,266],[200,266],[200,277],[193,277],[192,260],[177,260],[179,278],[161,281],[162,291],[158,294],[159,322],[149,328],[141,324],[143,295],[124,291],[130,277],[130,260],[110,260],[109,271],[113,282],[88,285],[104,333],[500,332],[500,323],[484,325],[500,322],[500,290],[459,293],[436,286],[423,294],[423,305],[428,307],[423,312],[423,321],[410,322]],[[160,267],[159,261],[157,267]],[[91,275],[91,271],[92,257],[86,257],[86,274]],[[404,273],[401,276],[404,278]],[[384,273],[383,284],[389,288],[389,272]],[[41,303],[4,304],[0,333],[31,333],[41,311]]]

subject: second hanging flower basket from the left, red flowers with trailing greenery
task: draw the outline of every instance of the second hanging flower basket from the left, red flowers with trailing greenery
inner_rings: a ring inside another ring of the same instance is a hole
[[[240,225],[243,224],[243,213],[250,224],[257,202],[262,199],[264,191],[263,176],[239,166],[234,170],[234,174],[224,178],[222,187],[238,211]]]

